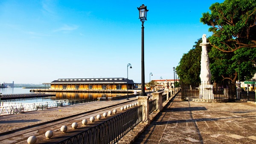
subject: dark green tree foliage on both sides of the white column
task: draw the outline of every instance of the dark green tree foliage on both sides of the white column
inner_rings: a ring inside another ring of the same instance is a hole
[[[202,39],[195,42],[193,48],[180,59],[177,74],[184,83],[201,82],[201,46]],[[231,81],[233,84],[250,80],[256,73],[256,48],[241,48],[235,52],[222,52],[215,47],[207,46],[212,81]],[[240,60],[240,64],[238,64]]]

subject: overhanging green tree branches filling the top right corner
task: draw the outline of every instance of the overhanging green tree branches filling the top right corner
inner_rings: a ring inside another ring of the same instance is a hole
[[[209,7],[200,21],[208,26],[210,44],[223,51],[256,48],[256,0],[225,0]]]

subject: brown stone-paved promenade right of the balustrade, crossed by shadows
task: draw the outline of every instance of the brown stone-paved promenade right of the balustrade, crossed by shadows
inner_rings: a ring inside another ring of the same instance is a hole
[[[134,144],[255,144],[256,105],[169,102]]]

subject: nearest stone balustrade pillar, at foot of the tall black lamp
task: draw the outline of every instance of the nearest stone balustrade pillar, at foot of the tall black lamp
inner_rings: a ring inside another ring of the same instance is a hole
[[[154,94],[154,93],[153,93]],[[148,122],[149,119],[149,98],[150,96],[138,96],[138,103],[142,105],[142,122]]]

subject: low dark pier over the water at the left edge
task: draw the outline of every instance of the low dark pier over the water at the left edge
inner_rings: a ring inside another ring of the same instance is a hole
[[[56,93],[22,93],[22,94],[3,94],[1,100],[12,100],[20,98],[41,98],[56,96]]]

